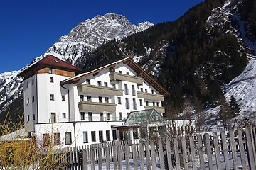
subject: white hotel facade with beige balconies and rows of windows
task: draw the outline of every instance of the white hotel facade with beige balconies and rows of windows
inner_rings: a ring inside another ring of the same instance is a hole
[[[81,146],[118,140],[119,132],[113,126],[122,125],[131,111],[156,108],[164,112],[164,95],[138,77],[138,72],[122,60],[110,66],[75,77],[44,72],[26,79],[26,131],[38,141],[58,134],[64,147]],[[67,133],[72,142],[67,143]]]

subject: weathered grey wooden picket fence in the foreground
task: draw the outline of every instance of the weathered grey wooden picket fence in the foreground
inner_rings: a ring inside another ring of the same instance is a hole
[[[174,137],[171,140],[107,143],[73,148],[65,169],[252,169],[255,128]]]

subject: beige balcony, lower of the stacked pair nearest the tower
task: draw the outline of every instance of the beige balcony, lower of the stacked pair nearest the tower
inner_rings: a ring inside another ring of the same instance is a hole
[[[90,101],[80,101],[78,108],[80,111],[116,111],[114,103],[98,103]]]

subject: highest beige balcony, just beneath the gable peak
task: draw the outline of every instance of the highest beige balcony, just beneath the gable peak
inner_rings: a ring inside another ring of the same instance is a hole
[[[129,81],[137,84],[143,84],[142,77],[135,77],[128,74],[122,74],[117,72],[110,72],[110,80],[123,80],[123,81]]]

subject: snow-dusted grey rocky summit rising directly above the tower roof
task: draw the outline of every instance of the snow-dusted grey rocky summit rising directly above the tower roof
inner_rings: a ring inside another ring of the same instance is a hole
[[[149,21],[139,23],[136,26],[124,16],[114,13],[106,13],[104,16],[97,15],[79,23],[68,35],[61,37],[46,53],[61,55],[62,59],[71,60],[72,64],[75,64],[78,58],[95,50],[103,43],[125,38],[151,26],[153,24]]]

